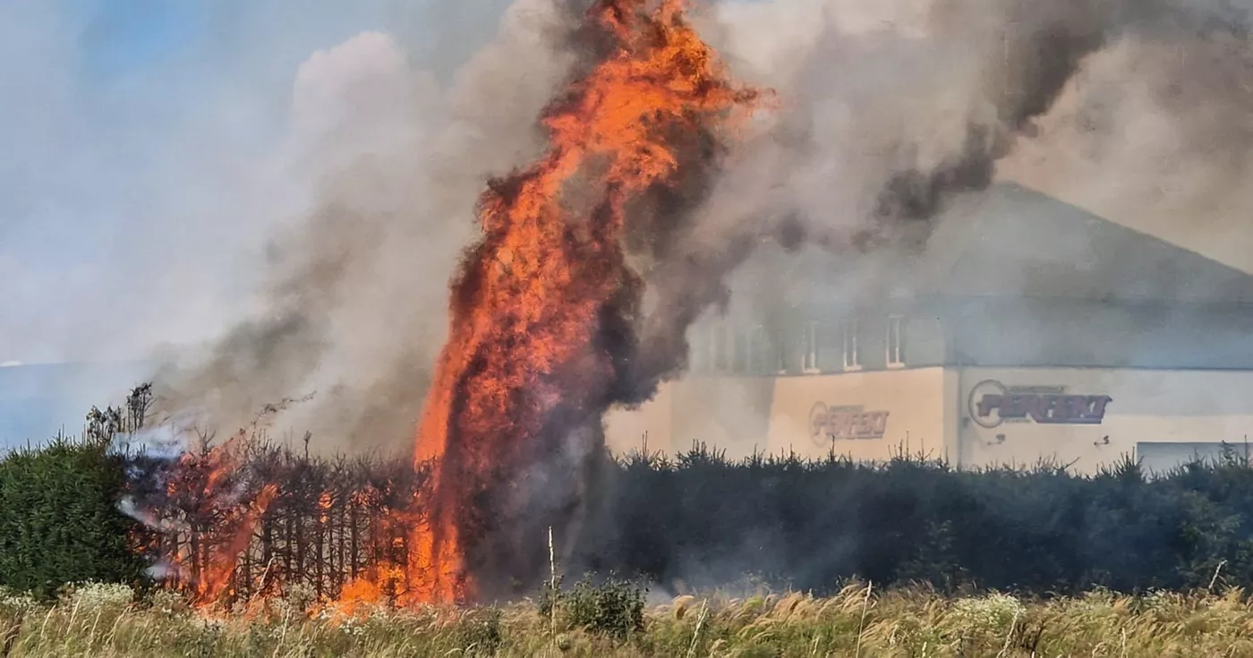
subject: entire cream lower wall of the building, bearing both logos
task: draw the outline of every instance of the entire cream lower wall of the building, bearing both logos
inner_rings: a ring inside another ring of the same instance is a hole
[[[996,404],[985,400],[995,395]],[[1167,469],[1213,456],[1222,441],[1244,450],[1253,371],[928,367],[689,377],[606,419],[619,454],[639,449],[645,432],[650,450],[670,455],[704,441],[732,459],[753,451],[821,459],[833,449],[886,460],[907,449],[960,467],[1049,460],[1091,474],[1130,455]]]

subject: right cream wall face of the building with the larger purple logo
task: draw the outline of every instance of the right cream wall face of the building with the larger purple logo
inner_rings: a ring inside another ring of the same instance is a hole
[[[1253,434],[1250,371],[965,368],[961,400],[967,467],[1044,457],[1090,474],[1136,456],[1139,444],[1208,452]]]

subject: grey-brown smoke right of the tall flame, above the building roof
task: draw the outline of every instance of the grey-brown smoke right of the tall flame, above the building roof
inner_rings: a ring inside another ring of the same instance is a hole
[[[685,330],[725,306],[728,274],[763,241],[907,258],[955,196],[997,177],[1203,252],[1229,244],[1229,223],[1188,239],[1180,224],[1220,216],[1215,201],[1240,194],[1250,88],[1242,11],[1203,1],[870,6],[722,4],[707,16],[715,43],[777,89],[782,109],[733,154],[649,279],[650,373],[683,371]],[[1113,198],[1111,179],[1125,191]],[[777,262],[766,263],[747,264],[743,303],[768,306],[787,287],[769,276]]]

